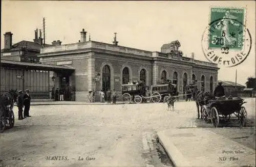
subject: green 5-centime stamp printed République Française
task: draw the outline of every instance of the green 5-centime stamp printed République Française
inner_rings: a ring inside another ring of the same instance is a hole
[[[211,8],[209,48],[243,49],[245,9]]]

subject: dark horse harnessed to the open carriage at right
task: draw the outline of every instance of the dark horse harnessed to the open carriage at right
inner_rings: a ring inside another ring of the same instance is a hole
[[[196,86],[194,86],[194,88],[192,89],[192,96],[197,104],[197,118],[198,119],[200,118],[200,114],[199,114],[199,106],[200,106],[201,119],[203,119],[203,115],[202,115],[203,105],[206,105],[207,100],[214,99],[215,97],[211,95],[209,92],[198,90]]]

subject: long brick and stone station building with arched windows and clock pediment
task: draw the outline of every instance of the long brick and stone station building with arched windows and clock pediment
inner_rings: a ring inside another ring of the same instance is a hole
[[[120,93],[122,84],[143,80],[147,86],[164,79],[177,85],[179,94],[185,86],[197,80],[198,88],[212,92],[217,86],[218,66],[214,63],[184,57],[179,41],[163,44],[161,51],[146,51],[87,40],[87,32],[80,32],[77,43],[48,46],[37,54],[40,63],[65,66],[72,73],[49,73],[49,84],[55,88],[75,90],[76,101],[87,101],[88,91],[115,89]],[[98,94],[96,100],[98,99]],[[119,96],[120,98],[121,96]]]

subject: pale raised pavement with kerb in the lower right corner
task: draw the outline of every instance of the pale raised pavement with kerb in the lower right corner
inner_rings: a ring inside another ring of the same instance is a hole
[[[255,166],[255,150],[202,128],[157,133],[176,167]]]

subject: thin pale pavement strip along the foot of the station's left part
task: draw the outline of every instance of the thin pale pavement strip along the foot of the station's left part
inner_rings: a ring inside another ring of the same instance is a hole
[[[30,105],[111,105],[110,103],[104,102],[95,102],[95,103],[87,103],[87,102],[79,102],[79,101],[31,101]],[[125,104],[122,101],[117,101],[116,104]]]

